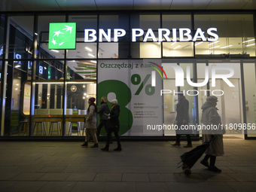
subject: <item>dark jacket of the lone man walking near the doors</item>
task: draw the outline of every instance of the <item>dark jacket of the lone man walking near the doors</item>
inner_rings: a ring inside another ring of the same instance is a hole
[[[182,122],[183,120],[187,120],[187,123],[190,122],[188,117],[188,106],[189,102],[184,96],[182,96],[177,104],[177,116],[175,120],[178,122]]]

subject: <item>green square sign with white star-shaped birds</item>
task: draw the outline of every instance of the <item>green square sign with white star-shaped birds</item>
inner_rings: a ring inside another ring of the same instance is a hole
[[[76,23],[50,23],[49,49],[75,49]]]

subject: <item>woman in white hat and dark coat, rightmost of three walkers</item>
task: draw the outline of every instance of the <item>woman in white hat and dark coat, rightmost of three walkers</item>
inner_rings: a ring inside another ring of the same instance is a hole
[[[111,139],[111,133],[114,132],[114,136],[117,138],[117,148],[114,149],[114,151],[122,151],[121,145],[120,145],[120,137],[118,136],[119,128],[120,128],[120,123],[119,123],[119,113],[120,113],[120,105],[118,105],[117,99],[113,99],[111,101],[111,111],[110,115],[108,117],[109,122],[111,123],[111,127],[108,126],[107,123],[107,130],[108,130],[108,135],[107,135],[107,144],[105,145],[105,148],[101,148],[102,151],[108,151],[109,148],[109,143]]]

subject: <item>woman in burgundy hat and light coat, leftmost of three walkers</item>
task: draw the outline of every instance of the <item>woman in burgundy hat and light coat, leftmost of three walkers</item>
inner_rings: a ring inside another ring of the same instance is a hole
[[[85,120],[84,126],[86,128],[85,130],[85,142],[83,145],[81,145],[82,147],[87,147],[88,146],[88,142],[89,142],[89,132],[92,134],[93,136],[93,142],[94,145],[91,148],[98,148],[98,139],[96,136],[96,125],[97,125],[97,106],[94,103],[95,102],[95,98],[91,97],[90,99],[88,99],[88,104],[89,107],[87,108],[87,118]]]

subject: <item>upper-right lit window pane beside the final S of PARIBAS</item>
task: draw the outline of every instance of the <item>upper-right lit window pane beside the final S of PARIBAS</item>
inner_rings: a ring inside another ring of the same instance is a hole
[[[194,20],[195,28],[201,28],[205,35],[207,29],[217,28],[219,37],[214,43],[196,44],[197,55],[255,56],[252,14],[198,14]]]

